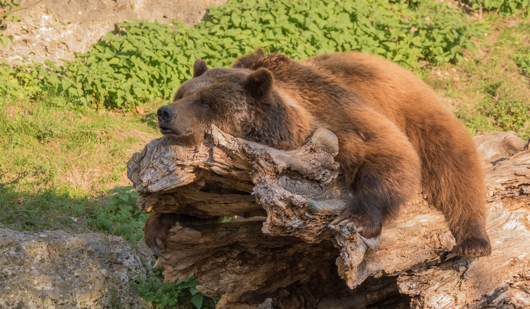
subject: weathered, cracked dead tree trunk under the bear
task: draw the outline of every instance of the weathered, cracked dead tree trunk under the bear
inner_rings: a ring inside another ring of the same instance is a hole
[[[494,162],[485,164],[493,253],[474,259],[450,253],[444,216],[421,193],[377,239],[330,228],[352,193],[328,130],[280,151],[212,126],[197,149],[160,138],[127,166],[141,210],[237,216],[175,225],[156,264],[168,281],[197,276],[217,308],[254,309],[269,297],[276,308],[528,307],[530,153],[513,132],[475,141]]]

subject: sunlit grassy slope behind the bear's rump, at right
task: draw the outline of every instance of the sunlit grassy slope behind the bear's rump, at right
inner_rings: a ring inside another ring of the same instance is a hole
[[[441,65],[424,79],[450,102],[471,134],[515,131],[530,137],[530,22],[522,15],[486,16],[488,35],[464,61]]]

